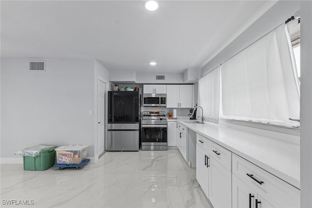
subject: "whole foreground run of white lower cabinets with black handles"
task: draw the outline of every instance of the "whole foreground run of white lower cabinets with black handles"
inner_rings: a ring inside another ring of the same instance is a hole
[[[214,208],[300,208],[300,190],[196,134],[196,179]]]

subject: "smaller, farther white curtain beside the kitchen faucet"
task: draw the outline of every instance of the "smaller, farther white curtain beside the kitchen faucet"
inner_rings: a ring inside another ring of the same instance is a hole
[[[204,118],[219,119],[220,66],[198,80],[198,105],[203,108]],[[197,112],[200,109],[197,108]],[[198,113],[197,113],[198,115]],[[199,115],[201,115],[199,113]]]

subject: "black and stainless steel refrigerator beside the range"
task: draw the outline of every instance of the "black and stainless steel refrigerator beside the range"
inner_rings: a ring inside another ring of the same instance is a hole
[[[108,92],[109,151],[138,151],[140,145],[140,94],[137,91]]]

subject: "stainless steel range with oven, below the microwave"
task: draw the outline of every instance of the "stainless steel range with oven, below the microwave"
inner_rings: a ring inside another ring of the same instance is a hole
[[[141,149],[167,150],[167,127],[165,111],[144,111],[141,123]]]

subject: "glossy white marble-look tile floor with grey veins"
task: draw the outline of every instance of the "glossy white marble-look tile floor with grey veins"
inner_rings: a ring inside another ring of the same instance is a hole
[[[1,164],[0,207],[210,208],[195,176],[177,149],[106,152],[80,169]]]

